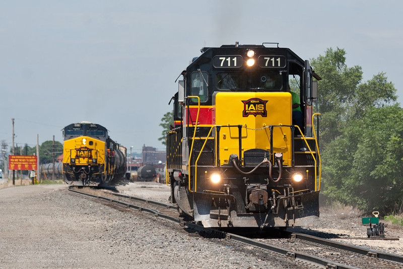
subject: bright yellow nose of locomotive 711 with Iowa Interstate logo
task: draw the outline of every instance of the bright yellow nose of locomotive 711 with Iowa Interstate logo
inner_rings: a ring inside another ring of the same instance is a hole
[[[240,160],[243,153],[251,149],[271,151],[269,126],[273,125],[273,152],[283,154],[283,166],[291,165],[290,93],[218,92],[213,99],[215,124],[222,126],[218,138],[220,165],[227,164],[231,154],[240,152],[238,127],[225,125],[242,125]]]

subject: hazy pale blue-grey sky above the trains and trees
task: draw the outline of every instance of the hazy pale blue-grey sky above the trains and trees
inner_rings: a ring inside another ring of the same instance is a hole
[[[401,1],[2,1],[0,141],[62,142],[74,122],[141,151],[157,140],[175,79],[202,47],[279,42],[303,59],[344,48],[403,103]],[[318,74],[320,76],[320,74]],[[320,89],[320,85],[319,85]]]

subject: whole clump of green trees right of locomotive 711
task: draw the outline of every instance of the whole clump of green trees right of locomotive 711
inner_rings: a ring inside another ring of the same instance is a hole
[[[361,67],[348,68],[345,55],[344,49],[329,48],[311,60],[323,79],[318,84],[322,190],[345,204],[388,212],[402,197],[403,174],[390,166],[401,165],[401,157],[391,153],[401,146],[400,129],[393,127],[402,123],[401,108],[390,106],[396,90],[384,73],[361,83]]]

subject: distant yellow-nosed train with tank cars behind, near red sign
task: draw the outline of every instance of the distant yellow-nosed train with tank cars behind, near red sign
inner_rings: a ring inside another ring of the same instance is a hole
[[[126,148],[108,130],[91,122],[63,128],[63,179],[69,185],[101,186],[124,176]]]

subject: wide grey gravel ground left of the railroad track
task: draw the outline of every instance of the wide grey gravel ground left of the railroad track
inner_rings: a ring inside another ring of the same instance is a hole
[[[179,225],[112,208],[67,189],[0,189],[0,268],[307,267],[225,239],[206,239]]]

